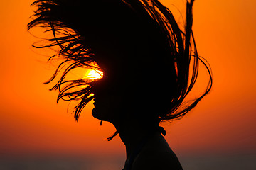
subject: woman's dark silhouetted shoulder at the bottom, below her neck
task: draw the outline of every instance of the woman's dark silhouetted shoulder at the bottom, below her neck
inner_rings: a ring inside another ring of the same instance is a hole
[[[176,154],[171,150],[164,137],[154,139],[144,146],[142,152],[134,160],[132,170],[181,170]]]

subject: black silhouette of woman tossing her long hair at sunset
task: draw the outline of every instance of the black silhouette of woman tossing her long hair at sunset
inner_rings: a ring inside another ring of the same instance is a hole
[[[64,69],[51,90],[60,91],[58,100],[80,101],[75,119],[94,99],[92,115],[117,129],[109,140],[119,134],[126,146],[124,170],[182,169],[159,123],[182,118],[211,88],[210,68],[198,57],[191,30],[193,0],[187,1],[184,31],[158,0],[38,0],[32,5],[37,9],[28,30],[41,26],[52,32],[41,47],[60,47],[50,59],[64,59],[46,84]],[[184,104],[199,62],[210,75],[208,86]],[[104,76],[66,80],[78,67]]]

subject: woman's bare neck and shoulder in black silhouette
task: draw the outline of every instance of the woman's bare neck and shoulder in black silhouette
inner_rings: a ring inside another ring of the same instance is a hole
[[[115,126],[126,146],[127,160],[131,159],[137,146],[145,138],[147,139],[144,147],[134,159],[132,170],[182,169],[178,158],[161,135],[161,132],[149,130],[149,125],[143,125],[137,120],[129,120]]]

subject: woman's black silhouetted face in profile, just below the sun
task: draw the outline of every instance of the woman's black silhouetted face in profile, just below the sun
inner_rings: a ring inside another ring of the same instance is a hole
[[[132,95],[127,93],[127,84],[117,77],[110,78],[105,74],[102,79],[93,82],[91,89],[94,95],[92,116],[99,120],[116,122],[128,103],[124,98],[130,98],[129,96]]]

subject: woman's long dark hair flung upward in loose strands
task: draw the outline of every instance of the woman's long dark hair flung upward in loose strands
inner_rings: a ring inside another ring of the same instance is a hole
[[[208,94],[212,74],[206,60],[198,56],[193,36],[193,0],[186,2],[184,30],[173,13],[158,0],[38,0],[28,30],[40,26],[52,32],[53,38],[37,48],[60,47],[56,57],[63,62],[46,84],[63,74],[50,90],[58,90],[58,101],[80,101],[75,107],[78,120],[82,109],[91,101],[95,81],[66,80],[78,67],[101,69],[104,77],[125,79],[126,75],[139,84],[151,84],[141,96],[149,96],[146,104],[156,103],[156,119],[178,120],[191,111]],[[115,49],[115,50],[113,50]],[[105,52],[105,56],[101,55]],[[111,53],[114,52],[113,57]],[[118,62],[115,62],[115,61]],[[199,62],[206,67],[210,79],[206,90],[191,102],[186,97],[198,77]],[[97,63],[97,65],[95,65]],[[119,63],[119,64],[117,64]],[[132,68],[132,69],[130,69]],[[156,74],[154,70],[161,70]],[[114,81],[114,78],[113,78]],[[136,97],[136,96],[135,96]],[[148,110],[149,111],[149,110]],[[146,115],[142,116],[143,118]]]

